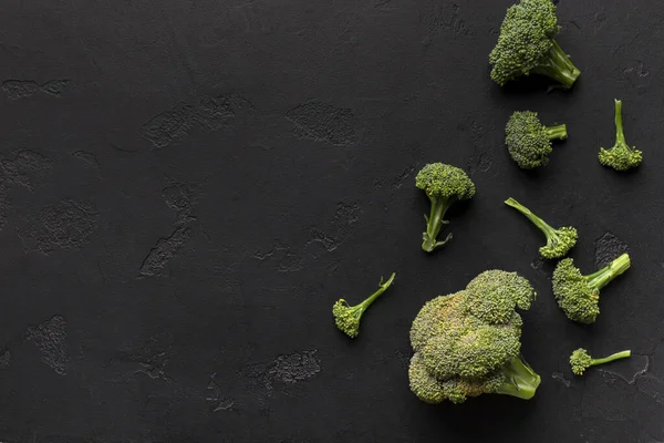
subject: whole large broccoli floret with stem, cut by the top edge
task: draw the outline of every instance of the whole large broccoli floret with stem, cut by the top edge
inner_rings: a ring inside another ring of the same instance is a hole
[[[489,54],[491,79],[499,85],[541,74],[572,87],[581,73],[553,40],[560,31],[550,0],[521,0],[507,10],[496,48]]]

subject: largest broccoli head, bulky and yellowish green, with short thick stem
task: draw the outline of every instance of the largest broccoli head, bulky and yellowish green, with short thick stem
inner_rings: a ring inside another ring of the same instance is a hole
[[[522,320],[536,292],[516,272],[488,270],[428,301],[411,328],[411,390],[426,403],[497,393],[531,399],[540,377],[522,360]]]

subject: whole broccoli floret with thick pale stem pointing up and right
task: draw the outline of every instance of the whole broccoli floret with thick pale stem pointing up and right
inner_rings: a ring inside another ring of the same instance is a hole
[[[606,267],[583,276],[574,260],[560,260],[553,271],[553,295],[558,306],[570,320],[592,323],[600,315],[600,290],[611,280],[630,269],[630,256],[623,254]]]

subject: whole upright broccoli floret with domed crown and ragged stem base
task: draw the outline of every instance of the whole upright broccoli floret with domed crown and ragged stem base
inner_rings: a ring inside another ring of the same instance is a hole
[[[432,202],[429,216],[424,216],[426,231],[422,234],[422,249],[433,253],[435,248],[452,239],[452,234],[448,234],[445,240],[438,241],[440,228],[449,224],[444,219],[445,213],[455,202],[473,198],[475,184],[464,169],[443,163],[432,163],[417,173],[415,186],[423,189]]]

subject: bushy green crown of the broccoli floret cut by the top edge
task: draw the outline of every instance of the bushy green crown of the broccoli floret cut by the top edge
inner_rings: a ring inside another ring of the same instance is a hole
[[[491,79],[502,86],[540,65],[560,31],[557,23],[550,0],[521,0],[508,8],[498,43],[489,54]]]

